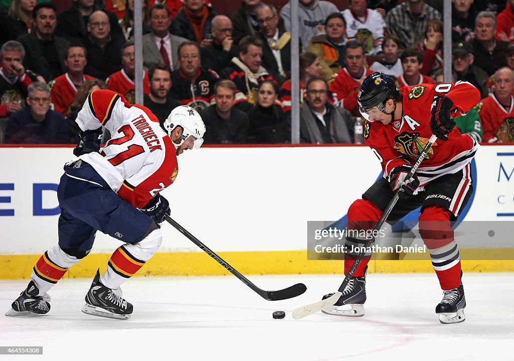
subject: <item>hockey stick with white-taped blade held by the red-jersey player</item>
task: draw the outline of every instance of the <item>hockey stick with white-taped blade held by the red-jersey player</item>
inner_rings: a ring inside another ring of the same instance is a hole
[[[414,165],[412,166],[410,172],[407,174],[405,179],[411,178],[414,175],[414,173],[416,173],[419,165],[427,156],[428,152],[430,151],[430,148],[432,148],[432,145],[436,141],[436,139],[437,139],[437,137],[432,134],[432,136],[428,140],[427,145],[425,146],[423,151],[421,151],[421,153],[419,154],[418,158],[416,159],[416,163],[414,163]],[[391,201],[387,205],[386,209],[382,213],[382,216],[380,217],[377,224],[375,225],[374,230],[380,230],[380,228],[382,227],[384,222],[386,222],[386,218],[388,218],[388,216],[391,213],[391,211],[393,210],[393,207],[395,206],[396,202],[398,202],[400,190],[401,190],[401,188],[398,188],[396,190],[396,192],[394,193],[393,198],[391,199]],[[373,232],[372,234],[375,234],[375,232]],[[339,299],[339,297],[341,297],[343,295],[344,288],[346,287],[346,285],[348,284],[348,281],[350,281],[355,270],[357,269],[360,262],[364,258],[364,255],[366,254],[365,249],[368,249],[374,241],[375,241],[375,238],[373,236],[370,236],[370,238],[368,238],[368,241],[366,241],[366,243],[364,244],[364,247],[363,247],[364,251],[359,252],[352,267],[346,274],[346,277],[344,277],[343,283],[341,283],[341,285],[339,286],[339,288],[335,294],[333,294],[332,296],[330,296],[328,298],[325,298],[324,300],[321,300],[321,301],[318,301],[315,303],[311,303],[311,304],[307,304],[305,306],[301,306],[301,307],[293,310],[292,318],[300,319],[300,318],[306,317],[308,315],[311,315],[313,313],[321,311],[326,306],[330,306],[330,305],[333,305],[334,303],[336,303],[337,300]]]

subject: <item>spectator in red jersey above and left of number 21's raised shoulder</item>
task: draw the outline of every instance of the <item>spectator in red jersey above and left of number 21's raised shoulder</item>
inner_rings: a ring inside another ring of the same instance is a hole
[[[53,109],[62,115],[66,115],[71,102],[75,99],[77,89],[86,80],[95,79],[84,74],[87,63],[87,52],[83,45],[71,45],[66,51],[64,64],[66,73],[50,81],[50,97]]]

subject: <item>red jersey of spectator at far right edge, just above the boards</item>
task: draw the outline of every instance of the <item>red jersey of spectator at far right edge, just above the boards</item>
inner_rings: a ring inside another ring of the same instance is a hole
[[[482,99],[476,106],[482,122],[482,140],[484,142],[494,140],[500,124],[507,118],[514,117],[514,98],[510,96],[510,107],[505,109],[494,94]]]

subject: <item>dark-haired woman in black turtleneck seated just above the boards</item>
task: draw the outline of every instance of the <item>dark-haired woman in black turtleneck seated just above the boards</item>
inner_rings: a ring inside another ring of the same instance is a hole
[[[249,143],[277,144],[290,141],[289,122],[277,104],[277,97],[277,85],[272,80],[259,84],[255,105],[248,111]]]

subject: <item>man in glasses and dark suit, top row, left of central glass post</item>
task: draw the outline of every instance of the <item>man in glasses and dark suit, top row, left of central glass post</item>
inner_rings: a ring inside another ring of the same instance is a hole
[[[284,22],[273,5],[265,4],[257,10],[257,22],[264,41],[262,65],[285,77],[291,70],[291,34],[285,31]]]

